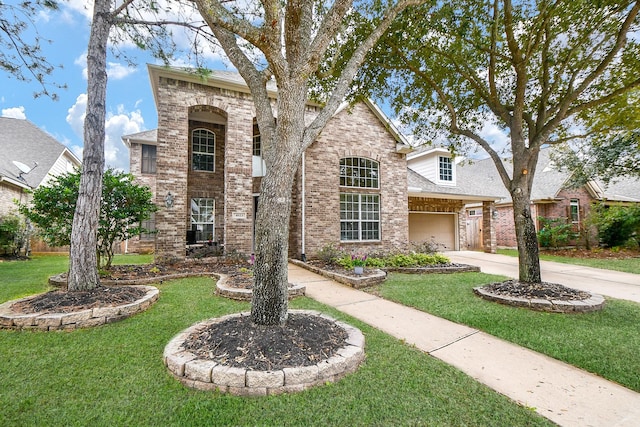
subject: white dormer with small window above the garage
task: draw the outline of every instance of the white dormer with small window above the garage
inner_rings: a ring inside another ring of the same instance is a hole
[[[438,185],[456,185],[456,163],[449,150],[431,148],[407,155],[407,165]]]

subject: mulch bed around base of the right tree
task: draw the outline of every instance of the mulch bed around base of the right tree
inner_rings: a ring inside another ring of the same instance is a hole
[[[589,292],[548,282],[525,283],[518,280],[507,280],[505,282],[491,283],[482,288],[496,295],[516,298],[583,301],[591,297]]]

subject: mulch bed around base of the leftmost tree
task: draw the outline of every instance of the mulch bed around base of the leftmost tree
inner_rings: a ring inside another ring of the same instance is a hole
[[[11,306],[18,313],[73,313],[96,307],[115,307],[133,303],[146,295],[146,289],[133,286],[99,286],[90,291],[51,291]]]

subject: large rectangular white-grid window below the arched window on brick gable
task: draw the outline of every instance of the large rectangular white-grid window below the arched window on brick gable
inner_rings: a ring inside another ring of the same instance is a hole
[[[379,194],[340,194],[340,240],[380,240]]]

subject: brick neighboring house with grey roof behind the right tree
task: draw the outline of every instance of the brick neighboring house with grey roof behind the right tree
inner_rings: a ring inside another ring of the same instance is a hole
[[[574,231],[582,234],[583,241],[574,243],[584,243],[585,238],[595,237],[593,233],[585,233],[588,231],[585,227],[585,219],[589,215],[593,202],[640,203],[640,180],[619,179],[608,187],[596,181],[590,181],[584,186],[572,188],[571,174],[556,167],[550,154],[551,148],[540,151],[531,189],[531,215],[538,230],[540,229],[539,217],[564,218],[573,224]],[[464,186],[470,191],[491,189],[494,194],[500,196],[500,200],[496,202],[495,212],[492,214],[495,218],[497,244],[500,247],[516,247],[511,196],[502,183],[493,161],[485,159],[465,165],[458,169],[458,177],[464,181]],[[482,219],[482,217],[479,205],[467,206],[467,218],[470,221]]]

